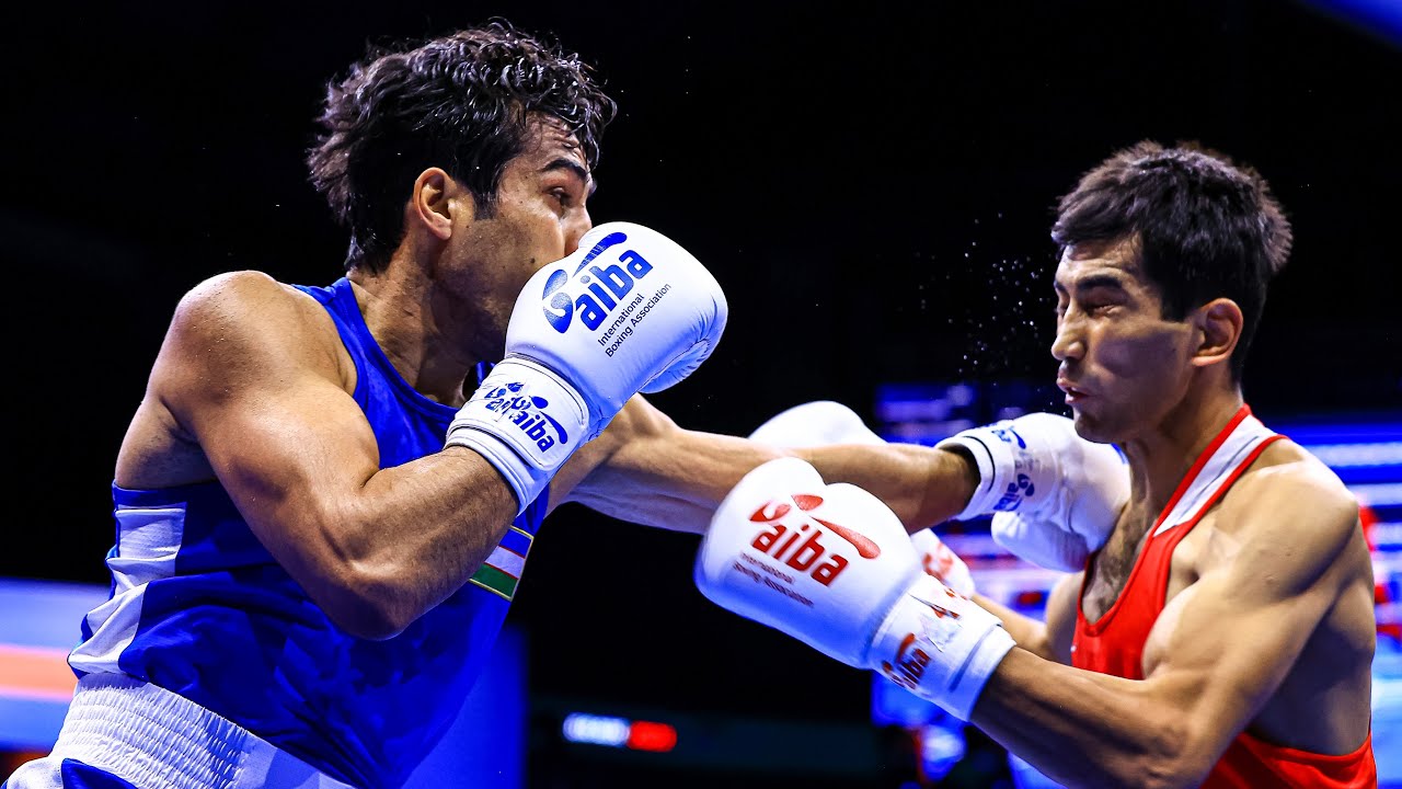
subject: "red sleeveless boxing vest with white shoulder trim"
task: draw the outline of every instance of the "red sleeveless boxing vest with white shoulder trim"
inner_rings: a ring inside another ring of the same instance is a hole
[[[1280,438],[1251,416],[1246,406],[1237,411],[1203,449],[1154,521],[1115,604],[1098,621],[1088,622],[1077,598],[1071,665],[1126,679],[1144,678],[1144,642],[1164,611],[1173,549],[1266,446]],[[1084,583],[1081,595],[1085,595]],[[1245,731],[1232,740],[1203,783],[1207,789],[1366,789],[1377,785],[1371,734],[1352,754],[1328,755],[1273,745]]]

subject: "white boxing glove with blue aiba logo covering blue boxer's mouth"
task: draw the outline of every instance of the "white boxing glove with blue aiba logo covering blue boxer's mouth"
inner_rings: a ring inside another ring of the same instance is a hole
[[[629,397],[700,366],[726,316],[721,285],[684,248],[641,225],[600,225],[526,282],[506,358],[458,410],[447,444],[486,458],[524,510]]]

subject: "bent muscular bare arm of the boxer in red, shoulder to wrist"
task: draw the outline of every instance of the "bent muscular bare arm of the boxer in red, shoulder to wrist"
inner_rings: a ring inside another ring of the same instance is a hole
[[[1145,679],[1015,649],[973,723],[1073,786],[1202,782],[1280,685],[1347,576],[1340,556],[1357,505],[1318,472],[1267,472],[1244,477],[1223,504],[1218,519],[1235,526],[1238,548],[1164,609],[1145,644]]]

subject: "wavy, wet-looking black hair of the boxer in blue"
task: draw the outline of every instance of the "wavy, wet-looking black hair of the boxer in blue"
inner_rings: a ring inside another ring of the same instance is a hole
[[[346,270],[383,270],[404,236],[415,178],[442,167],[491,216],[533,115],[559,119],[592,168],[615,104],[578,55],[503,20],[414,46],[372,51],[327,87],[311,183],[350,230]]]

